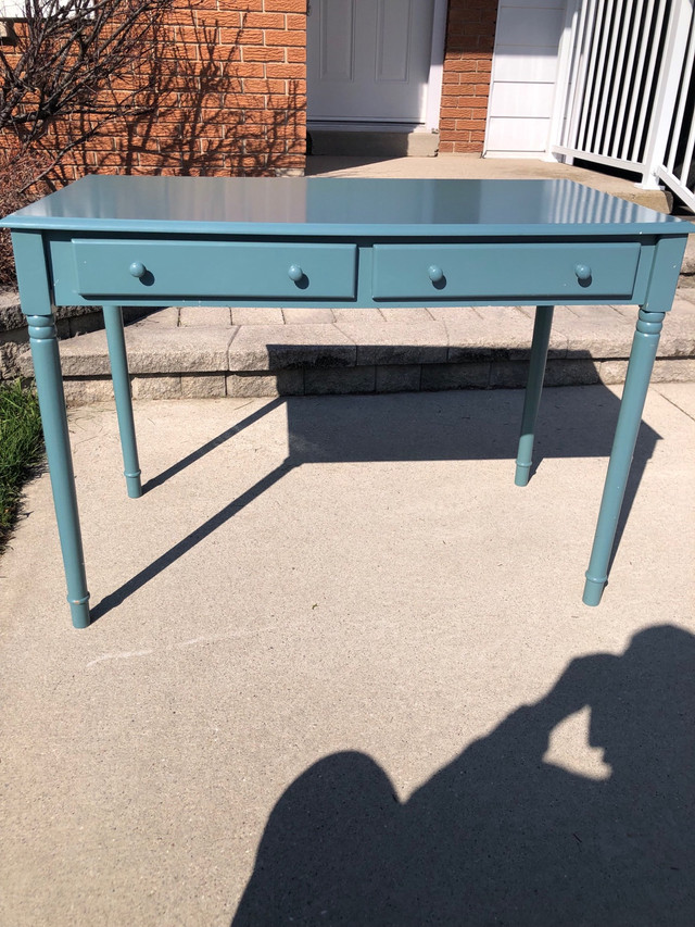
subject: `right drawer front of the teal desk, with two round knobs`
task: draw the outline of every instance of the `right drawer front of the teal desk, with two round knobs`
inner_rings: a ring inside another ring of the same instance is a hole
[[[563,299],[632,295],[640,245],[376,245],[379,299]]]

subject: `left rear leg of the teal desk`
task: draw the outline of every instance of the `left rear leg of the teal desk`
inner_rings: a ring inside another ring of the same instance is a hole
[[[126,340],[123,331],[123,310],[119,305],[104,305],[103,313],[106,343],[109,346],[109,360],[111,362],[113,394],[116,400],[116,415],[118,417],[118,433],[121,435],[126,489],[130,499],[138,499],[142,496],[142,484],[140,481],[140,463],[138,461],[138,446],[132,418],[130,376],[128,373],[128,358],[126,355]]]

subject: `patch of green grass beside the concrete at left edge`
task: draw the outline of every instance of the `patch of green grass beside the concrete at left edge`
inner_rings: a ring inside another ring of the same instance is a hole
[[[22,487],[42,455],[36,391],[18,380],[0,384],[0,552],[16,521]]]

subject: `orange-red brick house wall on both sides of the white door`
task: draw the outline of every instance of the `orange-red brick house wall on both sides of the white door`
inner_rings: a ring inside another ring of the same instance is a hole
[[[176,0],[153,72],[152,110],[111,124],[64,160],[92,171],[257,174],[301,171],[306,136],[306,0]],[[482,151],[497,0],[450,0],[440,151]],[[114,86],[125,95],[128,82]],[[54,147],[78,122],[59,124]]]

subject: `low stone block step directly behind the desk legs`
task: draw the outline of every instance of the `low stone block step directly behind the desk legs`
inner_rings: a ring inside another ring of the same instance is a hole
[[[126,327],[136,399],[522,387],[532,306],[169,306]],[[558,306],[547,385],[624,380],[632,306]],[[61,342],[71,403],[111,396],[103,330]],[[30,354],[17,360],[31,374]],[[655,381],[695,381],[695,287],[667,316]]]

